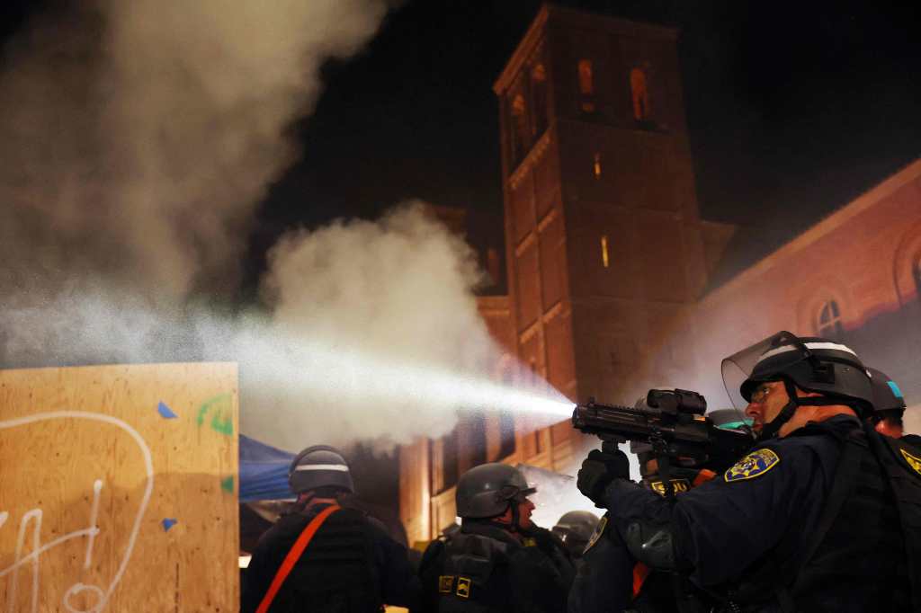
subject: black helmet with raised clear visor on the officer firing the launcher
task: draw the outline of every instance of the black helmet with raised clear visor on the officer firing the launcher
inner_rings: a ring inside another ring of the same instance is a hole
[[[800,389],[828,397],[865,414],[873,405],[867,368],[846,345],[818,337],[798,338],[787,331],[734,353],[722,364],[723,384],[737,408],[766,381],[787,380]],[[819,404],[800,399],[799,404]]]

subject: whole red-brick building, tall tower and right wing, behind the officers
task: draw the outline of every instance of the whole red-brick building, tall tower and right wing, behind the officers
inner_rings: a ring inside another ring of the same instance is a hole
[[[719,360],[777,330],[845,341],[921,399],[921,161],[708,290],[735,228],[698,214],[676,40],[557,6],[535,17],[494,87],[508,291],[479,299],[490,331],[574,400],[670,386],[721,406]],[[403,446],[411,540],[454,520],[467,468],[571,467],[577,436],[487,414]]]

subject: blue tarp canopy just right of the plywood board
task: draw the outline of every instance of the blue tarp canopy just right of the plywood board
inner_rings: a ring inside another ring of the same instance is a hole
[[[294,454],[240,434],[239,502],[296,498],[287,484],[292,459]]]

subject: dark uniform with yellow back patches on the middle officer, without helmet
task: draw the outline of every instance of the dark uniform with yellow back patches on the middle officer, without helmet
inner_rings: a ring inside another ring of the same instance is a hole
[[[535,528],[519,540],[487,522],[465,521],[433,541],[420,573],[426,612],[559,613],[572,565],[562,543]]]

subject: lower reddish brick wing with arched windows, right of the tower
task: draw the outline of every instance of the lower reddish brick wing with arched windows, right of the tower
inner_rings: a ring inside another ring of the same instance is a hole
[[[921,431],[921,160],[703,296],[682,344],[690,383],[725,399],[719,359],[777,330],[844,341],[892,376]],[[754,314],[754,315],[752,315]]]

